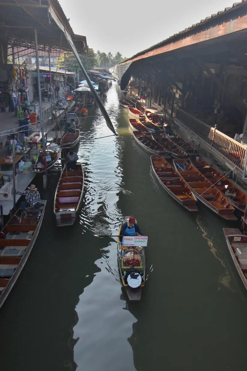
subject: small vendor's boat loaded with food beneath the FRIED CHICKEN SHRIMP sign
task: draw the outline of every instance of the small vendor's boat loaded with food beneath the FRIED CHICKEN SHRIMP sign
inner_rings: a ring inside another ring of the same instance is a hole
[[[129,220],[129,216],[124,218],[123,223],[126,223]],[[122,223],[122,224],[123,224]],[[122,227],[120,225],[120,230]],[[133,262],[134,259],[134,262]],[[146,270],[146,259],[144,247],[136,246],[135,249],[133,246],[123,246],[120,242],[120,237],[117,239],[117,262],[119,265],[120,280],[123,287],[126,289],[128,298],[132,301],[138,301],[141,299],[141,290],[145,284],[145,270]],[[128,269],[135,268],[141,276],[141,284],[137,288],[132,288],[126,283],[125,275],[128,272]]]

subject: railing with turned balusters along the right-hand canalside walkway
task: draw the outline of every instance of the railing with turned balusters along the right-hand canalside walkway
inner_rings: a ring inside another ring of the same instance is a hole
[[[246,146],[228,137],[216,128],[188,114],[181,108],[176,109],[176,121],[197,135],[221,156],[230,161],[234,166],[243,170]]]

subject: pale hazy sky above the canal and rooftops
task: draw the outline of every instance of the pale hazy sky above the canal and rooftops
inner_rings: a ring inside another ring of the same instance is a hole
[[[86,36],[90,48],[113,55],[119,51],[124,57],[131,57],[233,4],[233,0],[59,2],[74,33]]]

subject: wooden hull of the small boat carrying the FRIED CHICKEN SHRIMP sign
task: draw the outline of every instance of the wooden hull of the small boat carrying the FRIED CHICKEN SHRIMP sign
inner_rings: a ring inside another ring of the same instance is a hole
[[[124,218],[124,220],[128,220],[129,216],[126,216]],[[119,235],[120,235],[120,230],[121,230],[121,227],[122,227],[122,224],[120,225],[120,228],[119,228]],[[120,240],[119,240],[119,237],[117,239],[117,250],[119,251],[121,249],[121,243],[120,243]],[[132,246],[129,246],[132,248]],[[145,282],[146,282],[146,277],[145,277],[145,272],[146,272],[146,258],[145,258],[145,251],[144,251],[144,248],[142,249],[143,251],[143,259],[141,259],[141,265],[143,265],[143,269],[141,268],[138,268],[138,270],[140,271],[140,274],[143,273],[142,275],[142,278],[143,278],[143,282],[141,283],[141,285],[136,288],[136,289],[133,289],[131,288],[130,286],[126,285],[126,283],[124,282],[124,271],[127,270],[126,268],[123,268],[121,266],[121,260],[122,258],[119,257],[119,254],[117,253],[117,263],[118,263],[118,266],[119,266],[119,273],[120,273],[120,281],[121,281],[121,284],[123,285],[123,287],[125,288],[126,292],[127,292],[127,295],[128,295],[128,299],[130,301],[140,301],[141,299],[141,291],[145,285]]]

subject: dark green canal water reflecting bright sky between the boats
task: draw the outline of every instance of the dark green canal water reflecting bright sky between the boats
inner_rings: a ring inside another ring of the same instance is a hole
[[[227,222],[198,204],[189,213],[160,187],[136,144],[119,86],[81,119],[85,174],[80,216],[58,228],[50,175],[33,251],[0,311],[1,371],[246,370],[246,290],[233,265]],[[36,180],[36,184],[40,184]],[[116,234],[132,214],[144,234],[147,282],[140,302],[121,288]]]

